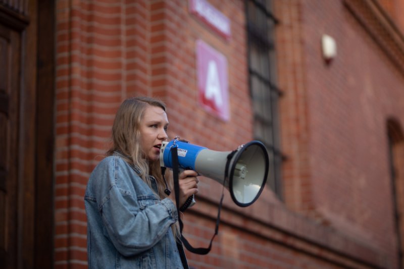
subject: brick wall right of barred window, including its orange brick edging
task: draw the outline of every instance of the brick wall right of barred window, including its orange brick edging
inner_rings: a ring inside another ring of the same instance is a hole
[[[372,38],[375,26],[361,25],[343,1],[282,3],[276,6],[283,16],[278,40],[287,46],[278,47],[282,148],[289,157],[285,202],[394,260],[386,125],[390,117],[403,125],[402,65]],[[323,34],[337,44],[329,65],[321,55]]]

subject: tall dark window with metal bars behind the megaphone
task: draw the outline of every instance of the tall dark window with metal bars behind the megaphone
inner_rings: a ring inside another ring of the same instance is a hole
[[[275,83],[274,27],[271,0],[246,2],[249,88],[254,112],[254,137],[263,142],[269,153],[270,167],[267,185],[282,198],[279,148],[278,99],[281,95]]]

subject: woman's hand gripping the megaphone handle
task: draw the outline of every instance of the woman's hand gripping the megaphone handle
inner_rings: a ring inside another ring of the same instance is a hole
[[[193,170],[184,170],[178,176],[178,182],[180,186],[179,202],[181,207],[189,196],[196,194],[198,192],[198,173]],[[172,191],[169,196],[173,201],[175,201],[175,192]]]

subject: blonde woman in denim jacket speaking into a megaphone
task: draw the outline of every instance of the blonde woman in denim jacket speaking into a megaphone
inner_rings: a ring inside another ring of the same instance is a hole
[[[168,125],[166,107],[157,99],[130,98],[119,107],[113,145],[85,192],[89,268],[187,267],[176,244],[174,191],[168,191],[172,184],[159,165]],[[192,170],[179,175],[180,206],[197,193],[196,176]]]

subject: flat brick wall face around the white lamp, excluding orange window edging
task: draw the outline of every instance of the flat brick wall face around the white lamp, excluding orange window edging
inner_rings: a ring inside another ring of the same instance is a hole
[[[313,52],[306,62],[309,104],[315,112],[310,155],[316,208],[334,227],[394,256],[386,125],[390,117],[404,124],[402,67],[390,62],[384,48],[342,3],[323,4],[307,6],[305,14],[309,9],[311,13],[304,22],[305,50]],[[337,9],[343,12],[331,14],[332,19],[322,14]],[[323,23],[315,28],[319,18]],[[338,44],[338,56],[327,67],[315,57],[320,55],[315,40],[323,33]]]

